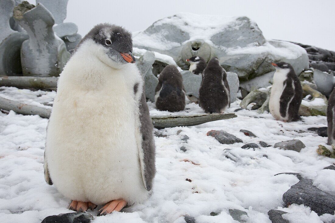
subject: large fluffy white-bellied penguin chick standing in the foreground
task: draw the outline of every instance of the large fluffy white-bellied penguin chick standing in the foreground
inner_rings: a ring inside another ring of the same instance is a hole
[[[60,74],[44,172],[71,210],[105,204],[106,215],[144,201],[152,188],[153,126],[132,49],[129,31],[98,24]]]

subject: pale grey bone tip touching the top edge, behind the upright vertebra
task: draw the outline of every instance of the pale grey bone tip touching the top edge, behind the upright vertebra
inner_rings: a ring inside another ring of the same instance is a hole
[[[66,7],[68,1],[69,0],[58,0],[58,1],[36,0],[36,4],[41,3],[51,12],[51,14],[55,19],[55,23],[61,24],[66,18]]]

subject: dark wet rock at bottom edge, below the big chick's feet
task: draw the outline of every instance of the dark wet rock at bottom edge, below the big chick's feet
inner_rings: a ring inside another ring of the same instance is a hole
[[[43,219],[41,223],[89,223],[93,221],[93,216],[86,212],[71,212],[66,214],[51,215]]]

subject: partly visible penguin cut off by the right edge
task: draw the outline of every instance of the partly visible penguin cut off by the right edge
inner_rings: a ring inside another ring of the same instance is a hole
[[[335,144],[335,88],[329,96],[327,107],[328,145]]]

